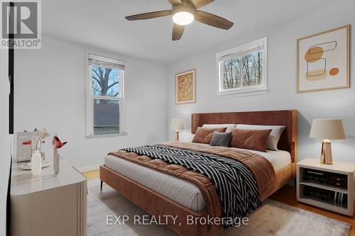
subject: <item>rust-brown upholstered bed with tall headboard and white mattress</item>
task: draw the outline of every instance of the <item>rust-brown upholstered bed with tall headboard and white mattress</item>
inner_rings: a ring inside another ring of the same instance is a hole
[[[259,153],[249,150],[249,152],[265,157],[275,171],[275,184],[271,190],[266,192],[266,195],[262,196],[262,201],[295,178],[297,111],[195,113],[192,114],[191,131],[195,133],[197,128],[204,124],[228,123],[285,126],[278,142],[278,151]],[[186,148],[183,145],[181,143],[177,147]],[[208,146],[200,144],[198,148],[207,150]],[[192,215],[194,218],[207,218],[211,213],[208,209],[210,203],[207,204],[207,201],[204,201],[201,188],[186,179],[112,155],[107,156],[105,164],[100,167],[100,179],[151,215],[179,215],[178,224],[170,220],[167,225],[180,235],[214,235],[223,229],[222,225],[187,224],[187,215]]]

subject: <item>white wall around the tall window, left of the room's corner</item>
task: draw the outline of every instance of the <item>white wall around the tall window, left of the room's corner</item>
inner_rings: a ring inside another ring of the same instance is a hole
[[[90,167],[121,147],[165,140],[166,67],[126,55],[125,130],[119,137],[85,138],[85,50],[103,52],[43,37],[41,50],[16,51],[15,132],[45,127],[68,142],[60,150],[75,167]],[[50,142],[45,150],[50,154]],[[47,153],[46,153],[47,154]],[[51,157],[50,157],[51,158]]]

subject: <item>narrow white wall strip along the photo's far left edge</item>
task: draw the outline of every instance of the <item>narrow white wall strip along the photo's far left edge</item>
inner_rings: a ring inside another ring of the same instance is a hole
[[[0,235],[6,234],[6,195],[10,170],[9,135],[9,56],[0,50]]]

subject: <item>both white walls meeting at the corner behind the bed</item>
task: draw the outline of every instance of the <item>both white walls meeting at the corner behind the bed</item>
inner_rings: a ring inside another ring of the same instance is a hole
[[[69,143],[62,156],[76,167],[103,161],[106,152],[126,146],[173,139],[168,120],[218,111],[259,111],[296,108],[299,114],[299,159],[319,157],[320,140],[308,137],[313,118],[340,117],[347,140],[333,141],[334,159],[353,161],[355,151],[355,89],[296,94],[296,40],[323,30],[355,24],[352,0],[338,1],[279,26],[236,38],[168,67],[126,55],[126,130],[128,136],[85,139],[85,50],[94,48],[43,37],[42,50],[16,51],[15,131],[45,127]],[[217,97],[216,53],[268,36],[268,94]],[[354,44],[354,38],[351,39]],[[99,51],[99,50],[96,50]],[[102,52],[102,51],[101,51]],[[354,47],[351,47],[354,55]],[[175,73],[197,69],[197,103],[175,105]],[[354,71],[351,63],[351,71]],[[168,79],[167,79],[168,74]],[[168,88],[168,91],[166,91]],[[168,100],[168,101],[167,101]],[[166,102],[167,101],[167,102]],[[166,112],[168,109],[168,112]],[[150,117],[150,118],[147,118]],[[50,140],[48,140],[48,146]],[[49,147],[46,147],[50,150]],[[355,162],[355,159],[354,159]]]

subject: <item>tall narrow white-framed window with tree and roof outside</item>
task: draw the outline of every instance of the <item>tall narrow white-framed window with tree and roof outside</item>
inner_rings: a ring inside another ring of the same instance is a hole
[[[124,133],[124,64],[87,54],[87,136]]]

